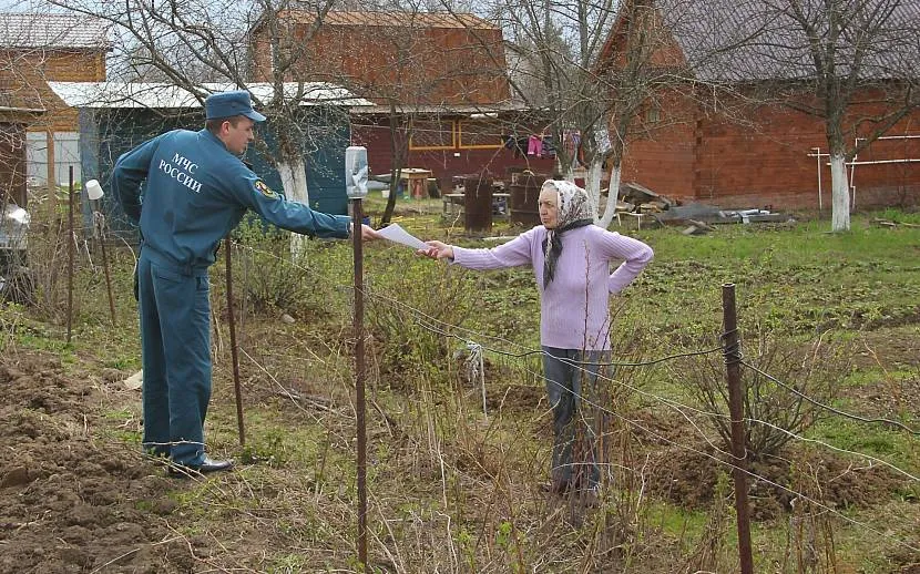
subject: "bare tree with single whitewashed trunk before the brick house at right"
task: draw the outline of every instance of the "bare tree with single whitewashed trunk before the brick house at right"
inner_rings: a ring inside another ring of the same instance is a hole
[[[679,0],[676,0],[679,1]],[[686,3],[676,31],[696,78],[824,122],[832,230],[850,226],[847,163],[920,104],[917,0]],[[723,102],[728,98],[723,98]]]

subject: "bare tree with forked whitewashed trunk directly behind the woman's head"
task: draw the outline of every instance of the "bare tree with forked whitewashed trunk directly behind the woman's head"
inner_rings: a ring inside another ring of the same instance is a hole
[[[596,221],[606,227],[626,146],[650,129],[641,112],[685,78],[681,62],[660,60],[669,35],[654,2],[545,0],[487,10],[501,19],[513,47],[517,95],[544,112],[562,175],[572,180],[584,168]],[[602,189],[605,164],[611,178]],[[602,191],[610,197],[603,211]]]

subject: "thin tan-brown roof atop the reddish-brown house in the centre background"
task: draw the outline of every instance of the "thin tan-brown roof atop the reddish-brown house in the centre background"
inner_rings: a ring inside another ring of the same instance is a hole
[[[285,10],[296,23],[314,23],[317,14],[309,10]],[[472,28],[497,30],[499,27],[468,13],[449,12],[327,12],[326,25],[386,25],[392,28]]]

